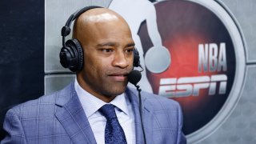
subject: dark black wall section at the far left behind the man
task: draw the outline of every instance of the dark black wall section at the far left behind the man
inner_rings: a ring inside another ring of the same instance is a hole
[[[0,139],[6,111],[44,91],[44,1],[0,1]]]

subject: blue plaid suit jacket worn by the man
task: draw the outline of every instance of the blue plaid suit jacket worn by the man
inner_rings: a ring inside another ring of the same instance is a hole
[[[127,88],[134,108],[136,143],[143,143],[138,92]],[[186,143],[182,134],[182,110],[178,102],[142,92],[146,143]],[[63,90],[22,103],[8,110],[4,122],[8,133],[3,143],[96,143],[86,114],[74,90],[74,82]]]

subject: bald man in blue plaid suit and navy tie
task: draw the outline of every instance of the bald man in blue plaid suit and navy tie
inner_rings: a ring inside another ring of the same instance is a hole
[[[73,38],[84,58],[74,82],[10,109],[1,143],[186,143],[177,102],[142,92],[140,121],[138,93],[127,87],[134,41],[120,15],[87,10],[74,22]],[[106,116],[110,107],[117,118]]]

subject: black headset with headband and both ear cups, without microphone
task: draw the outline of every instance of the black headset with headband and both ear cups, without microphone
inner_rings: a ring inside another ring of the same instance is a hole
[[[86,6],[81,10],[76,11],[74,14],[70,15],[70,18],[66,21],[66,25],[62,27],[62,49],[59,53],[60,63],[64,68],[69,68],[73,72],[78,72],[82,70],[84,56],[83,49],[78,42],[78,39],[65,40],[66,36],[70,34],[71,23],[79,17],[80,14],[86,12],[87,10],[102,8],[101,6]],[[139,61],[138,50],[134,49],[134,66],[142,67]]]

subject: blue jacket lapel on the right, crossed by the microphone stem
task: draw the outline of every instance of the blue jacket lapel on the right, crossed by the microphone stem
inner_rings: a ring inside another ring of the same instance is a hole
[[[139,102],[138,102],[138,92],[132,91],[129,88],[126,89],[126,94],[130,99],[130,102],[133,106],[134,110],[134,118],[135,118],[135,134],[136,134],[136,143],[143,143],[143,133],[142,133],[142,122],[139,114]],[[142,117],[143,117],[143,126],[146,135],[146,143],[150,143],[152,135],[152,118],[153,114],[150,110],[150,105],[145,105],[146,97],[142,97]]]

